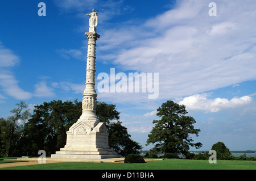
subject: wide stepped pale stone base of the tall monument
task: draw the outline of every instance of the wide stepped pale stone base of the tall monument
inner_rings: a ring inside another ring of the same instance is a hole
[[[104,159],[120,158],[109,148],[108,131],[104,123],[77,121],[67,132],[67,144],[51,158]]]

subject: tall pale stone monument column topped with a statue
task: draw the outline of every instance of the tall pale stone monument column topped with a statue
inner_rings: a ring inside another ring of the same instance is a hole
[[[108,145],[108,131],[104,123],[96,116],[97,94],[95,86],[96,68],[96,41],[100,35],[96,32],[98,24],[97,12],[87,14],[89,16],[89,32],[85,32],[88,38],[87,68],[85,90],[82,94],[82,115],[67,131],[67,143],[51,158],[119,158]]]

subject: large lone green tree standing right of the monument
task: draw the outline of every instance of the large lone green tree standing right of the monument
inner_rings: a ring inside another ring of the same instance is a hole
[[[191,134],[199,136],[200,129],[195,129],[193,124],[196,120],[191,116],[184,116],[188,112],[184,105],[179,105],[172,100],[167,100],[157,109],[156,115],[160,120],[153,120],[155,126],[151,134],[148,134],[147,145],[152,143],[155,147],[152,151],[162,151],[163,153],[173,153],[176,157],[179,154],[187,156],[189,146],[200,148],[200,142],[193,143]]]

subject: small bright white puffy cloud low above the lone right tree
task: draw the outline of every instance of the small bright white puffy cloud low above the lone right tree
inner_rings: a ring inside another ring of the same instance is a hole
[[[249,104],[252,100],[250,96],[234,97],[230,100],[224,98],[208,99],[210,94],[196,94],[181,100],[179,104],[184,104],[187,110],[202,110],[205,112],[218,112],[227,108]]]

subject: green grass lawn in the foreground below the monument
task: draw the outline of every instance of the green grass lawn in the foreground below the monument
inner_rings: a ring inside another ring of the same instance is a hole
[[[46,163],[31,166],[8,167],[3,170],[255,170],[255,161],[218,160],[210,164],[208,160],[164,159],[146,163]]]

